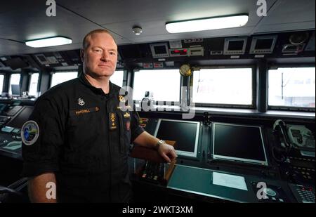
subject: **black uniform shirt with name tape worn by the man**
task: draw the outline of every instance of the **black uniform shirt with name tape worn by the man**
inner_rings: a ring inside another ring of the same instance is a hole
[[[119,90],[110,82],[105,94],[81,74],[39,97],[29,117],[39,137],[22,145],[22,175],[54,172],[59,202],[129,201],[129,144],[143,129]]]

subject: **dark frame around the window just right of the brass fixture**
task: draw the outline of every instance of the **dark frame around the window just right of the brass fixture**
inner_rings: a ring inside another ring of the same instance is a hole
[[[216,65],[216,66],[197,67],[197,68],[199,70],[251,68],[251,81],[252,81],[251,82],[251,85],[252,85],[251,105],[220,104],[220,103],[193,103],[193,93],[192,93],[192,102],[190,102],[190,105],[194,104],[195,107],[223,107],[223,108],[229,107],[229,108],[256,109],[256,99],[257,99],[256,91],[258,89],[256,65]],[[194,76],[193,76],[193,79],[195,79]]]

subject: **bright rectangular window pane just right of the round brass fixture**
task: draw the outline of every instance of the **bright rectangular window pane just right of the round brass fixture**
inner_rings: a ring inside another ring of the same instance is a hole
[[[251,68],[202,69],[193,76],[193,103],[253,105]]]

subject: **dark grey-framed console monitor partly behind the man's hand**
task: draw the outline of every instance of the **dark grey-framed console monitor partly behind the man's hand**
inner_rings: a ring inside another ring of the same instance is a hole
[[[154,136],[176,141],[178,156],[197,157],[199,126],[197,121],[159,119]]]

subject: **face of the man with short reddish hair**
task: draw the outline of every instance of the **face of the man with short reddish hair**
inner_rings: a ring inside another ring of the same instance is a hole
[[[107,33],[88,37],[88,46],[81,51],[84,72],[92,77],[110,77],[117,66],[117,44]]]

